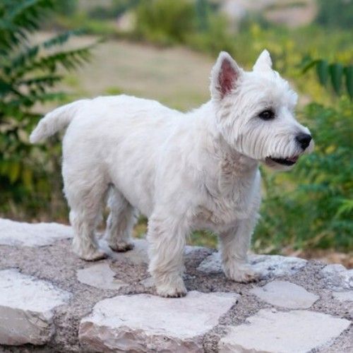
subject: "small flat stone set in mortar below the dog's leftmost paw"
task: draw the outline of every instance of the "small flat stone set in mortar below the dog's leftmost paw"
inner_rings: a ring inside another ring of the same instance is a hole
[[[85,285],[101,289],[120,289],[127,284],[114,278],[114,271],[108,263],[97,263],[96,265],[77,271],[77,279]]]

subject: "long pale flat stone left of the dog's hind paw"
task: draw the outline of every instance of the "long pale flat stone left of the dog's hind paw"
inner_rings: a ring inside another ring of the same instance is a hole
[[[73,230],[58,223],[14,222],[0,218],[0,245],[45,246],[73,237]]]

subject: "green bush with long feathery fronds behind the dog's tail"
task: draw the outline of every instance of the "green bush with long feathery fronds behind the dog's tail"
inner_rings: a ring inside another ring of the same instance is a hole
[[[61,198],[59,145],[49,149],[30,145],[28,136],[40,114],[33,107],[64,98],[53,90],[63,76],[87,61],[90,48],[62,50],[78,31],[56,35],[41,44],[30,44],[52,0],[4,0],[0,3],[0,212],[23,217],[38,210],[57,212]]]

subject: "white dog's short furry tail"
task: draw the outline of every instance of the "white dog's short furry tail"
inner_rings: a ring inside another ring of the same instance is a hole
[[[45,138],[54,135],[57,131],[66,128],[75,117],[78,109],[87,104],[87,102],[88,100],[77,100],[76,102],[56,108],[45,115],[30,134],[30,142],[40,142]]]

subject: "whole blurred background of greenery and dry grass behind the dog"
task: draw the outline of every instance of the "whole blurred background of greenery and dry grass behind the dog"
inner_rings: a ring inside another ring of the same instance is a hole
[[[267,48],[299,92],[316,150],[292,172],[262,169],[253,249],[352,267],[352,38],[352,0],[2,0],[0,216],[68,222],[60,137],[28,142],[44,112],[121,92],[191,109],[209,98],[220,50],[251,68]],[[141,217],[135,235],[145,229]],[[216,240],[195,232],[190,242]]]

